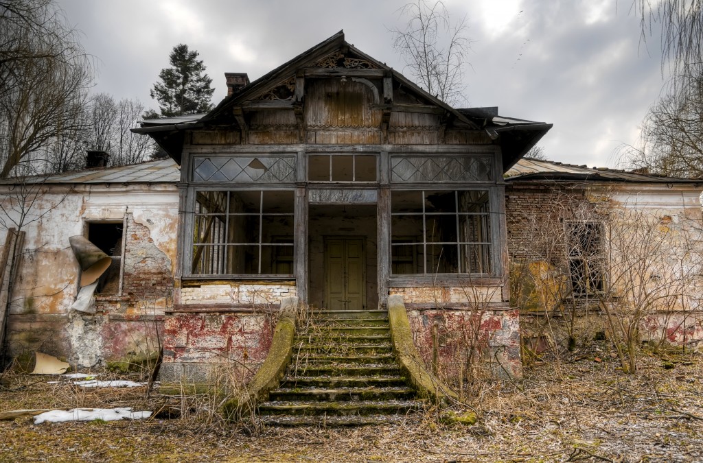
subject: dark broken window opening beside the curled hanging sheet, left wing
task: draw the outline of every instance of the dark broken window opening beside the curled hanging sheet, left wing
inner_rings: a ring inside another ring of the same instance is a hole
[[[120,294],[123,228],[124,224],[122,222],[88,223],[88,240],[112,259],[108,270],[105,270],[98,279],[96,294]]]

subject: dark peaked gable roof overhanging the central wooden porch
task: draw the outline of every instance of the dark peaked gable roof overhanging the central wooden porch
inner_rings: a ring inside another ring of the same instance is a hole
[[[216,126],[219,119],[231,122],[231,115],[234,108],[249,100],[262,96],[267,91],[271,91],[275,86],[283,83],[287,79],[297,77],[299,70],[314,67],[321,60],[333,56],[341,51],[344,56],[351,56],[370,63],[375,70],[382,75],[393,77],[394,81],[403,86],[405,91],[413,93],[419,100],[425,101],[427,105],[432,105],[444,110],[446,115],[464,124],[469,129],[484,130],[492,140],[501,145],[503,152],[503,168],[507,170],[517,159],[520,159],[542,136],[552,127],[552,124],[545,122],[533,122],[524,119],[514,119],[499,117],[497,108],[495,114],[486,112],[486,108],[466,108],[457,109],[439,100],[436,96],[430,95],[420,88],[413,81],[407,79],[403,74],[397,72],[381,63],[380,61],[366,55],[363,51],[344,41],[344,31],[337,32],[332,37],[322,41],[300,53],[295,58],[288,60],[283,65],[276,67],[264,76],[259,77],[250,84],[247,84],[230,96],[227,96],[207,115],[191,115],[180,118],[150,119],[141,122],[142,126],[132,129],[136,133],[149,133],[155,140],[169,152],[169,155],[180,163],[183,145],[183,131],[186,129],[200,129],[208,126]],[[353,70],[340,68],[339,77],[349,74]],[[236,123],[236,122],[231,122]]]

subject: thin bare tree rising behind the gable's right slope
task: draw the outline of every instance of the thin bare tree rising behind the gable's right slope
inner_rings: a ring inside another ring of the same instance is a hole
[[[404,30],[392,29],[393,46],[404,56],[412,76],[428,93],[449,104],[463,100],[463,69],[470,41],[466,18],[451,22],[442,1],[417,0],[400,10]]]

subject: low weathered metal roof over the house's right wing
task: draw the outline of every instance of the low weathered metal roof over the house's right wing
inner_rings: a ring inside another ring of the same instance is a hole
[[[520,159],[517,164],[505,172],[505,179],[516,180],[588,180],[588,181],[626,181],[681,183],[701,182],[700,178],[675,178],[654,174],[638,174],[607,167],[588,168],[585,164],[564,164],[562,162],[538,161],[537,159]]]

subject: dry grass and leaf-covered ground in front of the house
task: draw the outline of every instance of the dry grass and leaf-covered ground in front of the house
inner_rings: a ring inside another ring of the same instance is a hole
[[[478,413],[473,426],[441,424],[428,410],[386,426],[254,429],[223,422],[207,394],[147,398],[146,387],[84,390],[13,375],[0,412],[160,412],[117,422],[0,421],[0,462],[703,462],[703,356],[644,352],[628,375],[607,346],[593,349],[531,365],[519,383],[482,384],[466,399]]]

